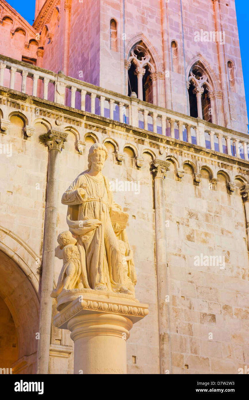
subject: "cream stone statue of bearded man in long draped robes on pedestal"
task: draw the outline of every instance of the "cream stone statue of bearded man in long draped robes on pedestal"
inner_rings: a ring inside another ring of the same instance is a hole
[[[110,218],[110,212],[120,208],[114,204],[109,182],[101,173],[107,156],[104,145],[94,144],[88,154],[88,170],[82,172],[62,196],[62,204],[68,205],[69,230],[78,240],[81,274],[77,287],[132,294],[125,282],[124,257],[118,243],[121,237],[115,234]],[[131,253],[124,232],[121,239],[126,241]],[[135,285],[134,262],[129,258],[128,276]]]

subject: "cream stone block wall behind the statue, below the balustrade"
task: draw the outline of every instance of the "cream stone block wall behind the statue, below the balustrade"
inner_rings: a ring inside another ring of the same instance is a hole
[[[63,192],[86,170],[90,146],[106,144],[109,157],[103,174],[113,182],[115,202],[129,213],[127,235],[138,276],[136,296],[149,304],[149,315],[133,327],[127,342],[128,372],[157,374],[161,309],[157,303],[150,162],[168,162],[169,171],[162,182],[166,216],[162,224],[167,229],[165,293],[169,296],[165,302],[170,312],[167,346],[171,354],[166,373],[236,374],[249,362],[248,243],[239,190],[248,182],[248,162],[45,100],[28,96],[20,100],[17,92],[8,96],[7,104],[6,91],[2,92],[0,106],[5,119],[10,119],[1,143],[12,143],[12,156],[0,154],[2,226],[41,258],[48,150],[39,142],[39,135],[51,128],[68,133],[60,154],[57,234],[67,229],[66,206],[60,203]],[[24,137],[25,124],[35,128],[30,139]],[[78,139],[86,143],[83,154],[76,150]],[[125,189],[125,182],[135,185],[130,187],[133,190]],[[221,268],[223,258],[217,266],[195,266],[196,256],[201,254],[224,257],[225,268]],[[35,256],[30,261],[24,250],[21,255],[30,265],[31,280],[38,282],[39,262]],[[55,259],[54,284],[61,265]],[[52,329],[50,356],[50,373],[72,372],[69,334]]]

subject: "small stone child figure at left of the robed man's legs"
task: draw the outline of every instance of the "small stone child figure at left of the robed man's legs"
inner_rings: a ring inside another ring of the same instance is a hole
[[[58,278],[56,288],[52,291],[51,297],[57,297],[62,289],[75,288],[80,276],[80,253],[75,246],[77,240],[71,232],[66,230],[58,235],[59,246],[55,249],[55,256],[63,260],[62,270]]]

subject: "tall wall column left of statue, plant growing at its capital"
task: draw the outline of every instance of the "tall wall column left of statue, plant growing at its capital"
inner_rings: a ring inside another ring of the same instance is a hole
[[[37,374],[48,374],[52,298],[54,281],[54,249],[56,247],[57,204],[59,187],[60,152],[68,134],[50,130],[43,135],[48,146],[48,178],[42,250],[42,282],[37,351]]]

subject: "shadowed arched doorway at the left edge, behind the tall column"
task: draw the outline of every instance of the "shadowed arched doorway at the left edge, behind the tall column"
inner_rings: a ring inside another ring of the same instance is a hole
[[[4,332],[0,340],[0,368],[12,368],[13,374],[35,374],[38,294],[30,282],[32,273],[27,276],[18,265],[17,254],[7,246],[5,252],[4,248],[0,242],[1,337]]]

